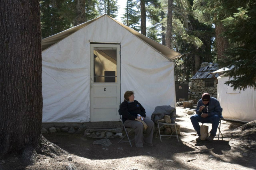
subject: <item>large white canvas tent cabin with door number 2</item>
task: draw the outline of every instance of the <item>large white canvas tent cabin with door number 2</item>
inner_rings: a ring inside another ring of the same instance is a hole
[[[175,106],[180,53],[103,15],[42,40],[42,122],[119,121],[127,90],[148,117]]]

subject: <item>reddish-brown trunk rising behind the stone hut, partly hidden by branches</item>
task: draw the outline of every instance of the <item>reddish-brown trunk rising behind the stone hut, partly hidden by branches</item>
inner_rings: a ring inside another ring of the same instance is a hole
[[[225,31],[221,22],[218,22],[215,25],[215,33],[216,33],[216,42],[217,42],[217,59],[225,59],[226,57],[223,55],[224,50],[228,48],[229,42],[223,38],[220,34]]]

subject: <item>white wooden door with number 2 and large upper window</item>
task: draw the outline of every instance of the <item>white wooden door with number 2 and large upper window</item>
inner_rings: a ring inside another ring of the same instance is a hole
[[[90,121],[119,121],[119,44],[90,44],[90,83]]]

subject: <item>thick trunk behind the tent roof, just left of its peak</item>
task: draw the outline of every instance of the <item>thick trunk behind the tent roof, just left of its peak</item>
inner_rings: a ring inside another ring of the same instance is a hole
[[[86,0],[77,0],[77,17],[75,17],[74,26],[86,22],[85,1]]]

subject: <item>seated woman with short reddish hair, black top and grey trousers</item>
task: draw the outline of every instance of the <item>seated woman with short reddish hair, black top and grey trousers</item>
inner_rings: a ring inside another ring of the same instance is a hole
[[[143,147],[144,126],[142,122],[138,120],[143,120],[147,125],[146,137],[144,138],[144,142],[148,146],[153,146],[152,139],[154,133],[154,122],[151,119],[146,118],[145,109],[138,101],[134,100],[133,91],[125,92],[124,97],[125,100],[120,105],[120,112],[122,114],[122,120],[125,127],[133,128],[135,131],[135,146]],[[138,114],[141,115],[141,118],[138,116]]]

